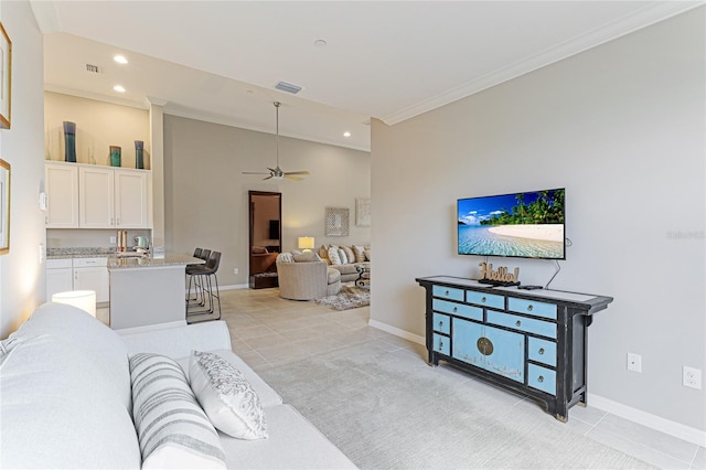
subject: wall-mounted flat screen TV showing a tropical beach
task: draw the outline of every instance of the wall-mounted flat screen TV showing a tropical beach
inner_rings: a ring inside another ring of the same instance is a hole
[[[459,255],[566,259],[565,190],[458,200]]]

